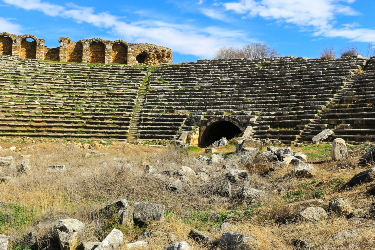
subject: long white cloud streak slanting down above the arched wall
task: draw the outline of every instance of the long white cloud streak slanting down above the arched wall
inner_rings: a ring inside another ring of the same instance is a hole
[[[245,43],[245,34],[239,31],[221,28],[197,28],[189,25],[144,20],[127,23],[109,12],[95,13],[93,7],[75,4],[60,6],[40,0],[3,0],[5,3],[27,9],[39,10],[50,16],[72,18],[78,23],[87,22],[99,28],[106,28],[111,33],[129,42],[147,42],[167,46],[181,54],[198,57],[211,57],[214,52],[228,44]]]

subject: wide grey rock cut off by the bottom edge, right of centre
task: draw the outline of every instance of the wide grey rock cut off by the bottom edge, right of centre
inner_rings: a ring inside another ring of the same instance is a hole
[[[218,247],[223,250],[253,250],[259,249],[260,243],[242,233],[223,232]]]

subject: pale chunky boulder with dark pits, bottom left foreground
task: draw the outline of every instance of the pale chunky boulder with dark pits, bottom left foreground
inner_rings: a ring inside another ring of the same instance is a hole
[[[75,250],[85,235],[85,225],[76,219],[59,220],[55,230],[62,250]]]

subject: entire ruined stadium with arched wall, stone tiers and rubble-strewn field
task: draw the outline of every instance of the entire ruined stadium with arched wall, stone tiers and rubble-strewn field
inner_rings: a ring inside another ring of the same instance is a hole
[[[0,33],[0,250],[375,249],[375,57],[44,42]]]

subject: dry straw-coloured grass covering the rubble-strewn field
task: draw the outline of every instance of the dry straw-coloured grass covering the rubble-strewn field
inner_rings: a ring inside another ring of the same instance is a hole
[[[234,151],[235,148],[231,147]],[[228,153],[229,148],[217,149],[221,153]],[[17,242],[23,244],[23,236],[34,230],[36,220],[48,219],[54,225],[58,219],[73,217],[86,225],[85,241],[101,241],[115,227],[124,233],[126,243],[137,240],[142,232],[157,231],[173,233],[178,240],[187,241],[193,249],[201,249],[201,246],[187,238],[191,229],[207,231],[222,222],[229,222],[230,231],[253,236],[260,241],[262,250],[294,249],[293,239],[307,240],[314,249],[375,249],[374,198],[365,194],[372,184],[340,190],[354,174],[364,170],[357,166],[356,160],[365,148],[359,146],[353,149],[357,150],[356,153],[351,154],[345,162],[327,160],[325,155],[317,154],[317,149],[309,149],[312,155],[317,156],[310,160],[319,162],[315,164],[319,175],[311,179],[288,177],[291,168],[262,177],[264,169],[267,169],[266,164],[243,166],[235,155],[228,154],[232,158],[226,164],[236,162],[239,168],[247,167],[250,171],[250,180],[245,186],[263,189],[267,193],[267,198],[254,204],[219,196],[217,190],[225,183],[225,171],[221,168],[223,164],[209,167],[205,163],[193,161],[193,157],[201,152],[189,153],[174,147],[118,144],[100,150],[110,152],[110,156],[84,158],[84,150],[64,148],[54,143],[37,144],[36,150],[30,152],[32,173],[18,173],[12,181],[0,183],[0,203],[4,203],[0,206],[0,234],[15,235]],[[17,153],[12,152],[0,156],[18,159]],[[127,162],[114,162],[112,159],[115,157],[125,157]],[[103,165],[104,162],[107,165]],[[190,178],[183,192],[171,193],[165,186],[176,177],[145,175],[143,162],[150,163],[159,172],[178,169],[181,165],[198,172],[199,168],[205,166],[210,178],[207,182]],[[64,175],[47,174],[45,170],[49,164],[65,164],[67,171]],[[343,167],[348,169],[341,171]],[[233,185],[232,192],[238,192],[242,186]],[[280,187],[287,192],[279,195],[277,189]],[[332,199],[345,198],[354,209],[355,216],[347,219],[329,214],[327,220],[306,223],[293,216],[295,211],[283,208],[285,204],[316,197],[324,200],[324,208]],[[133,207],[135,201],[163,204],[166,206],[166,219],[164,222],[153,222],[147,227],[136,228],[121,226],[116,219],[92,217],[98,208],[121,198],[126,198],[130,207]],[[11,204],[21,206],[21,212]],[[219,213],[220,218],[208,220],[211,211]],[[4,218],[8,219],[2,220]],[[333,234],[350,228],[359,231],[360,235],[353,239],[332,240]],[[218,239],[221,232],[213,230],[210,235]],[[169,244],[164,235],[147,241],[151,243],[150,249],[163,249]]]

